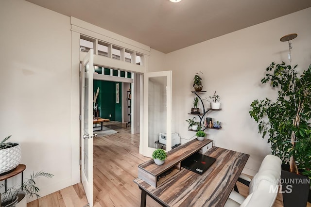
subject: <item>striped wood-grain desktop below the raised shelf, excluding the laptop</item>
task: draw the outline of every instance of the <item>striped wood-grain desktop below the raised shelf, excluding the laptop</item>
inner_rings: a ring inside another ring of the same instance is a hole
[[[216,161],[203,175],[182,168],[156,188],[140,178],[134,182],[168,207],[223,207],[249,155],[220,147],[206,155]]]

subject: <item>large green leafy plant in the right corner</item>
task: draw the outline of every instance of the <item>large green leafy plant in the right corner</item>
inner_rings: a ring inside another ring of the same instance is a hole
[[[270,64],[261,83],[277,90],[276,101],[254,100],[249,113],[262,138],[269,134],[272,154],[311,178],[311,65],[301,76],[296,67]]]

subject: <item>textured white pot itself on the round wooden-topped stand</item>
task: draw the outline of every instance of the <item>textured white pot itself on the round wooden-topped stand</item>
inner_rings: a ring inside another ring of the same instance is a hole
[[[0,149],[0,174],[13,170],[21,160],[20,144],[7,149]]]

